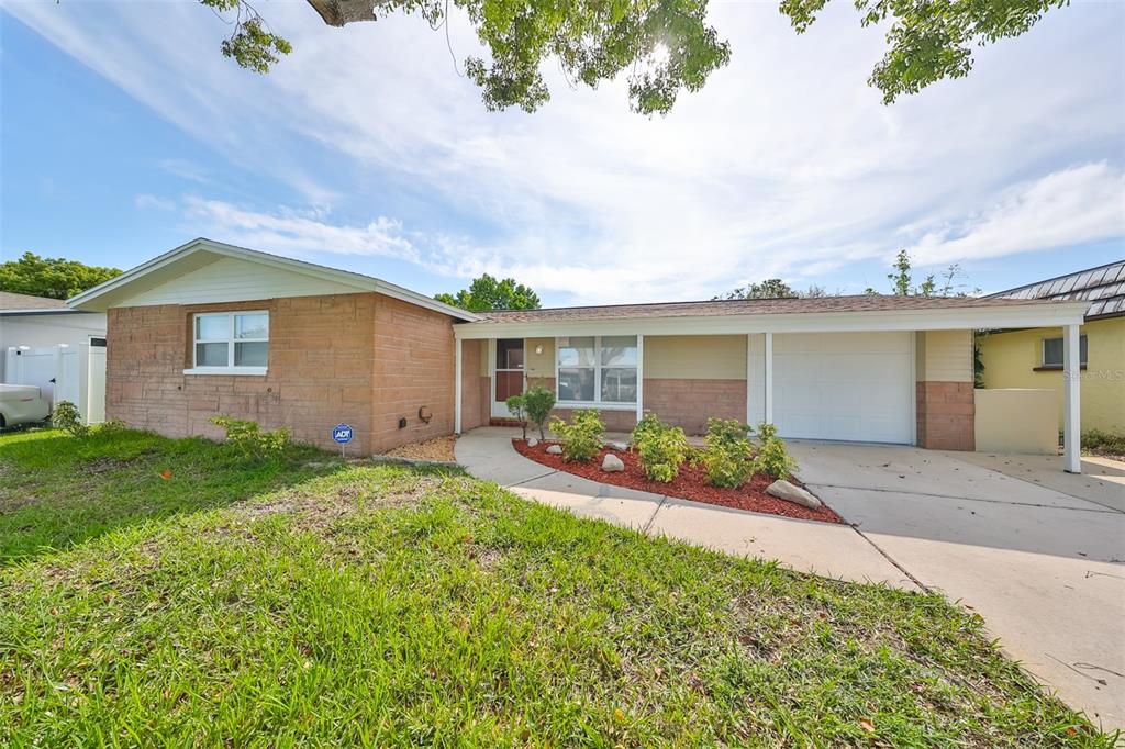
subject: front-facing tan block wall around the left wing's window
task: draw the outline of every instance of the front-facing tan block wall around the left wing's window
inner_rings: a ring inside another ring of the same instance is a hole
[[[350,445],[371,450],[372,334],[376,295],[294,297],[214,305],[161,305],[109,310],[106,415],[169,436],[217,439],[216,414],[263,428],[289,426],[294,439],[334,448],[330,430],[354,427]],[[184,374],[191,362],[191,314],[236,309],[270,313],[264,377]]]

